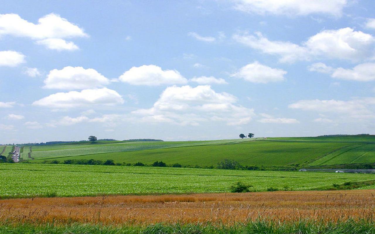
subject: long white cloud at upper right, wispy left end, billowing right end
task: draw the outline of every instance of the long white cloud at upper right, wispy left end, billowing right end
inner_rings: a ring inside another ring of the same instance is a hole
[[[306,42],[297,45],[291,42],[271,41],[257,32],[254,35],[237,33],[233,39],[239,43],[260,50],[264,54],[280,57],[282,63],[309,61],[324,57],[331,59],[348,59],[352,61],[367,60],[372,55],[375,38],[352,28],[323,30],[309,37]]]

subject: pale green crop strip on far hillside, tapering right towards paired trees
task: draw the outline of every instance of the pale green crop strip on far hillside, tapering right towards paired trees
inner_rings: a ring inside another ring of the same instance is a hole
[[[186,142],[125,142],[108,144],[67,144],[67,145],[48,145],[34,146],[31,157],[55,158],[63,156],[89,155],[108,152],[126,152],[145,149],[160,149],[181,146],[199,146],[199,145],[217,145],[232,144],[249,140],[216,140],[216,141],[186,141]]]

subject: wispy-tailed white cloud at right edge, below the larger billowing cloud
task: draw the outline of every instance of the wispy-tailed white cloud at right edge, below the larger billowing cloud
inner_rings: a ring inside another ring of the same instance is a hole
[[[328,73],[332,78],[342,80],[356,80],[356,81],[372,81],[375,80],[375,63],[359,64],[353,69],[344,69],[342,67],[333,68],[326,66],[324,63],[312,64],[309,67],[310,71],[321,73]]]

